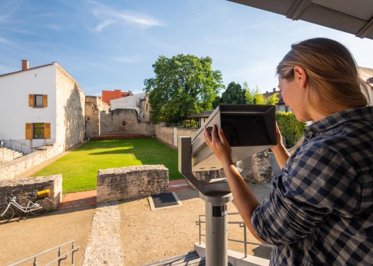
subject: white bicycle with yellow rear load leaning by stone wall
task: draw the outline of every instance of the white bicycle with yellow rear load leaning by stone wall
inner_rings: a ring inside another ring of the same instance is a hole
[[[38,192],[31,193],[31,200],[27,203],[26,207],[17,203],[17,196],[13,195],[13,189],[8,192],[8,201],[5,206],[0,207],[0,224],[5,224],[15,215],[15,211],[12,206],[18,210],[24,212],[27,216],[29,212],[33,215],[42,215],[52,208],[52,201],[47,196],[50,196],[50,189],[45,189]]]

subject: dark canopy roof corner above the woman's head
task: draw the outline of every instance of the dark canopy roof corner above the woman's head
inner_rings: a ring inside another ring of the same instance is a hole
[[[372,0],[228,0],[373,40]]]

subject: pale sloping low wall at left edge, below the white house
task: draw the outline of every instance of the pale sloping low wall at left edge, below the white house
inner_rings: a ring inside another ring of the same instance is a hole
[[[32,153],[13,159],[13,161],[7,162],[6,164],[1,164],[0,180],[15,178],[17,175],[28,171],[33,166],[41,164],[57,154],[59,154],[59,148],[55,143],[54,145],[40,147]]]

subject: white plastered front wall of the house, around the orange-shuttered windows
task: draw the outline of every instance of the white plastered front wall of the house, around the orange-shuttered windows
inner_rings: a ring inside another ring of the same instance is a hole
[[[29,94],[48,95],[47,107],[29,107]],[[25,139],[26,123],[51,123],[51,139],[56,139],[54,64],[0,76],[0,139],[14,139],[29,145]],[[43,146],[43,143],[43,139],[33,140],[33,146]]]

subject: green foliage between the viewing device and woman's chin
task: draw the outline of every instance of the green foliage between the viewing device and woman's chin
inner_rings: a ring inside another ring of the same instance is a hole
[[[282,136],[287,139],[287,146],[294,146],[296,141],[303,136],[306,124],[296,120],[294,113],[277,111],[276,122]]]

